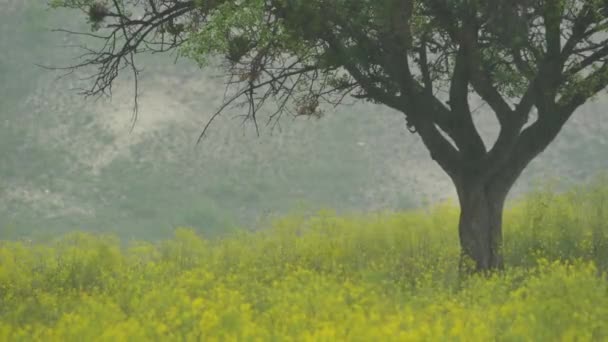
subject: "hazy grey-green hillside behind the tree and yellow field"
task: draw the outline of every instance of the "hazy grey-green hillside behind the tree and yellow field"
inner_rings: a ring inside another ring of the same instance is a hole
[[[74,14],[0,0],[0,238],[75,229],[159,238],[177,226],[215,235],[294,210],[403,210],[454,197],[403,116],[384,107],[284,117],[260,137],[227,113],[196,145],[221,102],[221,71],[170,56],[143,58],[140,116],[129,133],[128,77],[111,100],[85,100],[70,90],[83,85],[76,77],[57,81],[35,66],[74,61],[77,51],[66,46],[77,41],[48,31],[83,27]],[[547,179],[567,186],[608,169],[605,108],[602,95],[581,109],[511,197]],[[492,115],[480,108],[477,119],[491,141]]]

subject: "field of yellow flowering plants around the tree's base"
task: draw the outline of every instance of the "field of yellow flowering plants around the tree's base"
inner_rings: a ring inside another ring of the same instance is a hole
[[[507,269],[460,277],[454,205],[293,215],[158,243],[0,242],[1,341],[608,339],[608,186],[506,214]]]

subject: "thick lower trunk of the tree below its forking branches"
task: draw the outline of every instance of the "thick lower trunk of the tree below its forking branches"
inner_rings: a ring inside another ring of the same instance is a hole
[[[501,269],[502,214],[509,188],[487,184],[458,188],[461,271]]]

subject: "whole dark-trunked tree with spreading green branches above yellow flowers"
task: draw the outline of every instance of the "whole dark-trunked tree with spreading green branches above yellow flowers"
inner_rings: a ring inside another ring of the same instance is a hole
[[[55,0],[80,9],[99,40],[66,68],[95,67],[86,95],[139,70],[135,56],[177,51],[201,67],[222,57],[228,106],[267,123],[318,115],[345,98],[403,113],[450,176],[464,259],[502,267],[502,213],[524,168],[608,83],[605,0]],[[500,125],[486,146],[470,103]],[[135,95],[137,104],[137,88]]]

